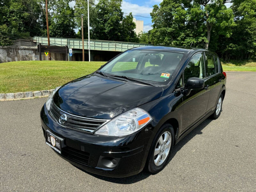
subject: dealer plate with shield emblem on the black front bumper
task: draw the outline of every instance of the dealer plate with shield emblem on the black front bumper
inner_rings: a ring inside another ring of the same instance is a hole
[[[45,131],[45,143],[53,148],[56,152],[61,154],[62,147],[64,147],[64,139],[54,135],[49,130]]]

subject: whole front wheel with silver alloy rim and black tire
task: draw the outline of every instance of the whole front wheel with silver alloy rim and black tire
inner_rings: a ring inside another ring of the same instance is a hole
[[[164,124],[154,138],[146,167],[148,172],[160,172],[166,165],[174,143],[174,130],[171,124]]]

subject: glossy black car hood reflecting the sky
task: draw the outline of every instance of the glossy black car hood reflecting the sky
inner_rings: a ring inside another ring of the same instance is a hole
[[[63,85],[54,103],[70,114],[112,119],[127,110],[161,97],[162,87],[88,75]]]

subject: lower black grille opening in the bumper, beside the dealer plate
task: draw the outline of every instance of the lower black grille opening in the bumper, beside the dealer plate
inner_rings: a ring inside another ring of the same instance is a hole
[[[77,163],[88,165],[90,153],[80,151],[71,147],[62,148],[62,155],[70,160],[73,160]]]

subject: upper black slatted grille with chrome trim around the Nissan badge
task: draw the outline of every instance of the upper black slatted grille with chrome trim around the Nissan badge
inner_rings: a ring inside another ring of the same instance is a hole
[[[95,129],[99,128],[102,124],[108,121],[105,119],[92,119],[69,114],[58,108],[53,101],[50,104],[49,112],[52,118],[55,119],[59,125],[81,132],[94,132]],[[67,121],[63,124],[60,124],[59,118],[63,114],[66,114]]]

